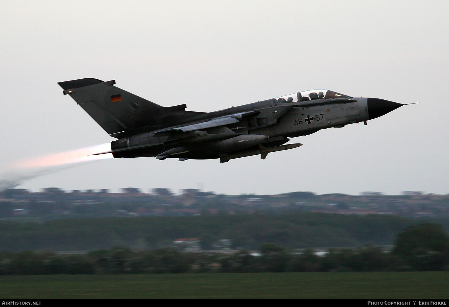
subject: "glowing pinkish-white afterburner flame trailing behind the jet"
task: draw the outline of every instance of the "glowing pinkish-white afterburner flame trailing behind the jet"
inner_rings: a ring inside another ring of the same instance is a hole
[[[112,153],[89,156],[90,154],[93,153],[101,153],[109,150],[110,150],[110,143],[106,143],[82,149],[70,150],[62,153],[51,153],[41,157],[17,161],[14,162],[11,165],[11,167],[13,168],[54,167],[65,164],[110,159],[113,158]]]

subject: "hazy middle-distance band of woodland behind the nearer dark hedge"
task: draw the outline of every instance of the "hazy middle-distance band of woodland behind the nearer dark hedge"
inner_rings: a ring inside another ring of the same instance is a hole
[[[234,249],[257,249],[272,242],[286,248],[391,245],[416,219],[393,215],[338,215],[291,212],[285,215],[199,215],[58,219],[38,223],[0,222],[0,250],[98,250],[167,247],[178,238],[198,238],[203,250],[232,240]]]

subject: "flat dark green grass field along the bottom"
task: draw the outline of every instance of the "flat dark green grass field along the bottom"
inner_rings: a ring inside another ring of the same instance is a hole
[[[449,298],[449,272],[0,276],[1,299]]]

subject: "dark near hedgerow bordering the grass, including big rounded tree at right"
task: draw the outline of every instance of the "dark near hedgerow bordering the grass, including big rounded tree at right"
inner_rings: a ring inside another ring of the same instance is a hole
[[[181,253],[170,248],[132,251],[126,247],[84,255],[51,251],[0,253],[1,275],[439,270],[449,270],[449,237],[439,224],[407,228],[397,236],[392,252],[380,247],[331,248],[322,257],[312,249],[294,253],[273,243],[260,246],[260,255],[247,250],[225,255]]]

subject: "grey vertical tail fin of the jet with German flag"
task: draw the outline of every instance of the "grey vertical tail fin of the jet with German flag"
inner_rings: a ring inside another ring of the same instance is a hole
[[[163,107],[113,86],[115,80],[84,78],[58,82],[110,136],[119,138],[133,130],[153,126],[163,114],[182,112],[186,105]]]

